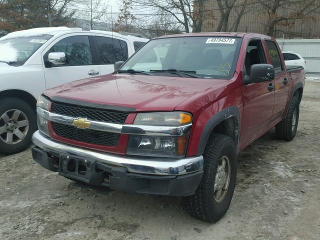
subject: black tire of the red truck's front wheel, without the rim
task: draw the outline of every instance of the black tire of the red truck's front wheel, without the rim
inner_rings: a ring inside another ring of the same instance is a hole
[[[214,183],[220,159],[227,156],[230,165],[229,184],[224,198],[217,202],[214,196]],[[218,221],[227,211],[236,179],[237,152],[234,141],[222,134],[213,134],[205,147],[204,167],[201,182],[191,196],[183,197],[184,209],[193,217],[207,222]]]

